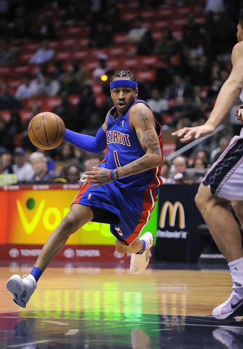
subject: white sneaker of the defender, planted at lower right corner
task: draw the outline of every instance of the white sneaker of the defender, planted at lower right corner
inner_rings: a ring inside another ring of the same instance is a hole
[[[233,289],[227,301],[213,309],[212,315],[219,320],[243,315],[243,287]]]

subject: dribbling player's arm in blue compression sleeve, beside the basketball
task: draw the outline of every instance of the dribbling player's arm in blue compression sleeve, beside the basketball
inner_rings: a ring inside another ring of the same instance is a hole
[[[100,154],[106,148],[107,119],[108,114],[95,137],[66,129],[64,140],[86,152]]]

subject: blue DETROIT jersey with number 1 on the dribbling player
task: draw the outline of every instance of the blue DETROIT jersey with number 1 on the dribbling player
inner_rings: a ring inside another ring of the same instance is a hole
[[[143,100],[135,101],[132,106],[137,103],[147,103]],[[131,106],[131,107],[132,107]],[[131,108],[130,107],[130,108]],[[149,107],[149,106],[148,106]],[[130,110],[129,108],[129,110]],[[150,108],[150,107],[149,107]],[[119,116],[116,119],[111,115],[113,107],[108,113],[107,122],[107,148],[104,161],[100,167],[107,169],[116,169],[131,163],[134,160],[141,158],[145,153],[134,132],[129,124],[129,110],[125,115]],[[162,134],[161,125],[156,122],[156,132],[159,137],[160,147],[162,150]],[[161,167],[145,171],[141,174],[133,174],[127,177],[122,177],[115,180],[115,185],[124,189],[133,189],[143,191],[152,189],[162,184],[160,177]]]

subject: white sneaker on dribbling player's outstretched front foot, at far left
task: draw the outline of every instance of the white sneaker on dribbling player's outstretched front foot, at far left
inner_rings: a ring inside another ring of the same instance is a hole
[[[36,280],[31,274],[24,275],[23,279],[19,275],[13,275],[7,281],[6,288],[13,294],[13,302],[19,307],[25,308],[36,289]]]

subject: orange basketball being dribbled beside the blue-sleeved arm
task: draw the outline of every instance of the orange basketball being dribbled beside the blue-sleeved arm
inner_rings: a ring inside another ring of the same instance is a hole
[[[49,150],[63,142],[65,130],[65,124],[57,114],[41,112],[30,120],[28,136],[35,147]]]

